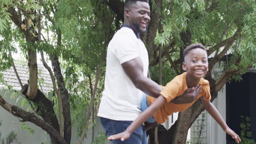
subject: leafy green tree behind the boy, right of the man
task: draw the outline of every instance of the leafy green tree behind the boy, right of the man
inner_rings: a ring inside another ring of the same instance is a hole
[[[123,6],[117,4],[118,8],[113,8],[114,3],[117,1],[109,1],[108,5],[118,15]],[[154,0],[150,1],[150,8],[151,21],[142,39],[147,45],[150,72],[155,81],[159,80],[156,71],[161,61],[165,63],[162,77],[170,77],[163,84],[182,73],[182,52],[191,43],[202,43],[208,47],[208,56],[213,55],[206,75],[211,85],[211,101],[230,79],[244,74],[248,68],[255,68],[255,55],[252,54],[256,52],[255,1]],[[226,59],[222,65],[223,74],[213,79],[213,66],[222,58]],[[159,125],[159,143],[185,143],[188,129],[202,111],[197,101],[188,110],[179,112],[178,120],[170,129]],[[154,143],[154,131],[149,133],[150,143]]]

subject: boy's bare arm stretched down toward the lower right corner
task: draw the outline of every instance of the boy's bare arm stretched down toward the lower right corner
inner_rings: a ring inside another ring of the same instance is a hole
[[[228,127],[228,125],[226,124],[226,122],[224,121],[222,116],[220,115],[219,111],[211,103],[211,101],[205,100],[203,98],[201,98],[201,101],[202,101],[203,107],[205,107],[205,109],[210,113],[210,115],[218,122],[218,124],[220,125],[220,127],[222,127],[222,129],[225,131],[225,133],[232,136],[232,138],[235,139],[235,141],[237,143],[239,143],[241,141],[240,137],[233,130],[231,130]]]

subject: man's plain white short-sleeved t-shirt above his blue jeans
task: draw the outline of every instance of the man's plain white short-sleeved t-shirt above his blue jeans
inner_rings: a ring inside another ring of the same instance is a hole
[[[116,121],[134,121],[141,113],[142,91],[126,75],[121,64],[140,57],[143,75],[148,75],[148,52],[132,29],[122,27],[114,34],[107,50],[105,87],[97,116]]]

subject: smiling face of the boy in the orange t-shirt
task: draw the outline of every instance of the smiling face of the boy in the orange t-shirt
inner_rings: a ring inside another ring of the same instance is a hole
[[[187,71],[189,76],[200,79],[208,71],[208,57],[205,50],[196,48],[188,52],[185,56],[185,62],[182,64],[183,70]]]

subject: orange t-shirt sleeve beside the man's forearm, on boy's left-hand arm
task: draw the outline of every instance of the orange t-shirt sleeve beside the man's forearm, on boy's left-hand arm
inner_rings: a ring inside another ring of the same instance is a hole
[[[167,103],[169,103],[171,100],[181,95],[180,89],[181,84],[173,79],[171,82],[167,83],[160,93],[166,98]]]

